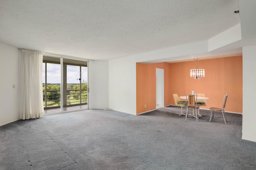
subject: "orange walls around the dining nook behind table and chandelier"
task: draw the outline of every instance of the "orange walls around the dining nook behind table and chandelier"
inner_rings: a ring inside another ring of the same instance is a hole
[[[222,107],[224,94],[228,94],[225,111],[242,113],[242,56],[198,60],[198,68],[204,68],[205,77],[190,77],[190,69],[196,61],[181,63],[136,63],[137,114],[156,109],[156,68],[164,69],[164,106],[174,104],[173,94],[185,96],[204,93],[210,98],[206,106]],[[146,104],[146,108],[144,105]]]

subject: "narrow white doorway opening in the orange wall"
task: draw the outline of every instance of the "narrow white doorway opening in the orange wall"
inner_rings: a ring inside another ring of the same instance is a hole
[[[156,68],[156,109],[164,107],[164,69]]]

